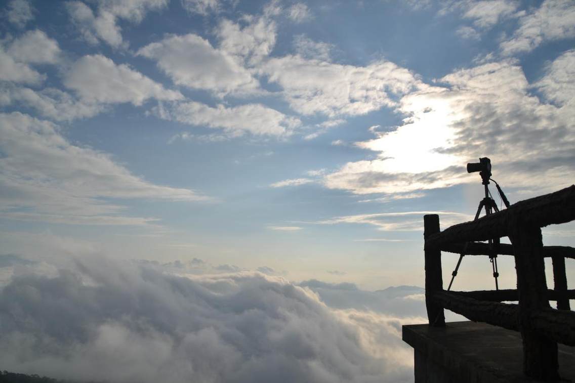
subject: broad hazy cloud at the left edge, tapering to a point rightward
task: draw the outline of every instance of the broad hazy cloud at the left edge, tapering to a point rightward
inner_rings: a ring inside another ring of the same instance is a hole
[[[143,225],[109,198],[201,201],[189,189],[136,177],[99,151],[71,144],[56,125],[21,113],[0,114],[0,208],[6,218],[78,224]]]

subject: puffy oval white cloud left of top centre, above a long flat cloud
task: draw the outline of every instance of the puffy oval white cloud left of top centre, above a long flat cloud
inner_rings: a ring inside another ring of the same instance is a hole
[[[259,86],[231,56],[197,35],[166,37],[146,45],[137,54],[155,60],[178,85],[210,90],[217,95],[251,92]]]

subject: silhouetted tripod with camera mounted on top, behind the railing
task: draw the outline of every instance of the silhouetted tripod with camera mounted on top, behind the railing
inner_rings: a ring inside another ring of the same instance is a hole
[[[480,171],[482,185],[484,185],[485,189],[485,197],[479,202],[479,207],[477,208],[477,213],[475,214],[474,221],[479,219],[479,215],[481,214],[481,210],[485,209],[485,215],[488,216],[494,212],[499,212],[499,208],[497,204],[491,197],[491,193],[489,192],[489,181],[493,181],[497,187],[497,191],[499,191],[499,195],[501,196],[501,200],[504,202],[505,207],[509,207],[509,201],[505,197],[503,190],[499,187],[499,184],[491,179],[491,161],[489,158],[480,158],[479,163],[469,163],[467,164],[467,172],[473,173],[475,171]],[[467,251],[467,245],[469,242],[466,242],[463,245],[463,251],[459,254],[459,260],[457,261],[457,266],[455,266],[455,270],[451,273],[451,281],[449,282],[449,287],[447,291],[451,290],[451,285],[453,285],[453,280],[455,276],[457,276],[457,271],[459,271],[459,266],[461,266],[461,261],[463,260],[463,256],[465,256],[465,252]],[[493,269],[493,278],[495,279],[495,289],[499,290],[499,284],[497,282],[497,277],[499,277],[499,271],[497,270],[497,248],[499,247],[499,238],[494,238],[489,240],[489,262],[491,262],[491,266]]]

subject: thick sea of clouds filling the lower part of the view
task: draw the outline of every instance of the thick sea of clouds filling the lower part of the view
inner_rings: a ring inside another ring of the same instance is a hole
[[[229,269],[2,255],[0,367],[111,382],[413,381],[401,324],[425,321],[422,289]]]

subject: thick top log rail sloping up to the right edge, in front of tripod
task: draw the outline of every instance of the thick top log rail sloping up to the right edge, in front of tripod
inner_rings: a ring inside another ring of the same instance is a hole
[[[477,221],[448,227],[425,239],[425,248],[441,248],[448,243],[471,242],[509,235],[510,221],[519,219],[526,225],[545,227],[575,220],[575,185],[529,200],[519,201],[509,208]]]

